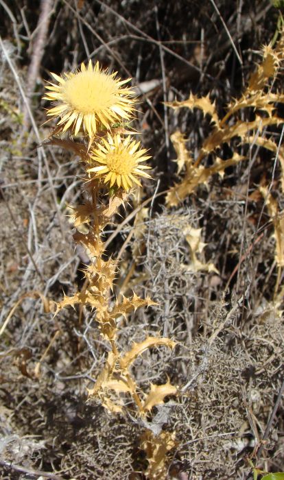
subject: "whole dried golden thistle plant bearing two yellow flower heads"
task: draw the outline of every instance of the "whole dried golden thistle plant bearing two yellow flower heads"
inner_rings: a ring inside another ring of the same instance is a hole
[[[76,304],[93,311],[99,333],[110,348],[102,372],[88,389],[88,397],[96,397],[111,413],[124,414],[130,410],[132,416],[140,418],[145,426],[141,448],[146,451],[149,463],[146,475],[150,479],[163,479],[167,472],[165,455],[174,447],[174,437],[161,429],[153,431],[149,413],[155,405],[163,404],[166,396],[176,395],[177,388],[167,381],[164,385],[151,385],[150,392],[141,392],[131,367],[145,350],[156,346],[174,348],[175,343],[165,337],[147,336],[140,343],[132,344],[127,352],[119,350],[119,317],[154,302],[135,293],[132,298],[122,295],[121,300],[115,298],[117,262],[106,259],[102,240],[105,226],[126,202],[132,187],[141,186],[139,178],[151,178],[145,172],[150,169],[145,165],[150,156],[125,129],[125,122],[134,115],[135,99],[131,88],[126,86],[130,79],[120,80],[117,73],[102,70],[98,62],[93,66],[91,61],[87,68],[82,64],[75,73],[51,75],[57,83],[49,82],[43,97],[53,103],[47,116],[57,119],[50,143],[59,143],[76,152],[86,171],[87,200],[74,208],[77,231],[73,238],[84,246],[89,259],[84,269],[84,287],[57,302],[56,314]],[[65,132],[68,139],[56,138],[55,135]],[[74,141],[73,136],[80,137],[80,142]]]

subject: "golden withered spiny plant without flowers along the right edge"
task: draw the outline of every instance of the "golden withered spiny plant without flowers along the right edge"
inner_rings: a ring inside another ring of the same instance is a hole
[[[176,206],[185,200],[185,198],[196,191],[200,185],[207,185],[209,180],[216,173],[222,178],[228,167],[237,165],[244,160],[250,159],[250,151],[246,154],[238,153],[238,144],[258,146],[273,152],[276,160],[281,165],[281,176],[279,178],[279,187],[284,189],[284,148],[281,145],[282,136],[279,145],[274,140],[270,128],[283,124],[283,118],[279,115],[278,105],[284,103],[283,92],[272,93],[272,86],[279,75],[279,69],[283,62],[284,32],[282,30],[280,40],[276,45],[265,45],[262,52],[261,63],[257,69],[250,75],[248,84],[244,93],[239,98],[232,99],[226,107],[226,114],[223,117],[218,115],[215,101],[211,101],[210,96],[198,97],[189,95],[185,101],[172,101],[167,105],[175,110],[180,108],[189,108],[193,110],[198,108],[204,115],[211,117],[212,130],[205,137],[196,158],[193,152],[187,149],[185,136],[176,130],[171,135],[171,141],[176,149],[176,162],[178,165],[177,173],[182,174],[180,183],[169,189],[167,194],[167,205]],[[245,111],[250,109],[253,119],[244,120]],[[218,151],[229,145],[233,151],[230,158],[221,158]],[[202,161],[211,158],[210,166],[202,165]],[[278,278],[275,287],[275,298],[279,291],[281,272],[284,266],[283,250],[283,215],[280,212],[277,200],[272,197],[270,187],[264,185],[259,189],[266,200],[268,213],[274,226],[275,246],[275,265],[278,268]]]

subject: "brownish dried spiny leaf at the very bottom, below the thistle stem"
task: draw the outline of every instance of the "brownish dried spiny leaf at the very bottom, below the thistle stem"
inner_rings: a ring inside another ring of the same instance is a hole
[[[150,430],[141,435],[141,448],[145,451],[148,461],[145,472],[148,479],[167,479],[167,453],[177,445],[175,436],[175,433],[163,431],[155,437]]]

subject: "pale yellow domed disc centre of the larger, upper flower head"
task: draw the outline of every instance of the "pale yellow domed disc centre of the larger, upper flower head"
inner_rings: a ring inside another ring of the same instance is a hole
[[[104,112],[113,106],[118,90],[110,75],[97,71],[83,71],[73,75],[63,89],[64,101],[83,115]]]

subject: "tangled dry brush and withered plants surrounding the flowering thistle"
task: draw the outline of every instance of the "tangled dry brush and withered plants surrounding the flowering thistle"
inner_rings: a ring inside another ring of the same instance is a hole
[[[147,470],[137,419],[87,399],[107,351],[92,311],[45,313],[83,287],[88,256],[69,221],[84,170],[42,145],[41,98],[49,71],[88,58],[133,78],[131,126],[153,157],[105,240],[117,295],[158,304],[121,319],[121,349],[177,342],[132,368],[142,390],[179,388],[148,419],[175,433],[167,476],[248,479],[248,459],[283,470],[281,2],[0,0],[0,14],[2,478]]]

